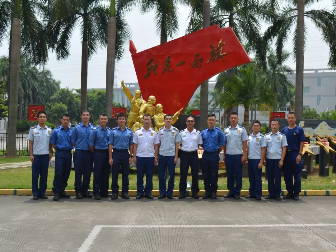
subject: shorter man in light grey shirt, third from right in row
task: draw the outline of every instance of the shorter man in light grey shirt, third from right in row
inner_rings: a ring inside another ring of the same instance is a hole
[[[249,173],[249,195],[245,196],[246,199],[261,200],[262,183],[262,162],[266,156],[266,137],[260,131],[260,121],[252,122],[253,133],[249,136],[247,141],[247,157],[246,160],[247,170]]]

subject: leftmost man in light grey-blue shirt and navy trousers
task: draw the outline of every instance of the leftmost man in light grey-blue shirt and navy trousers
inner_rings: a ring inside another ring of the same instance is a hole
[[[33,199],[47,199],[48,167],[51,159],[52,147],[50,144],[52,129],[45,125],[47,114],[44,111],[37,113],[38,125],[29,130],[29,153],[32,162],[32,192]],[[38,179],[40,177],[40,188]]]

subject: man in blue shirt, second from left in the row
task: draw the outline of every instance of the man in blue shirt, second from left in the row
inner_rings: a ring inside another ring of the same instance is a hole
[[[61,119],[62,125],[57,127],[51,135],[51,145],[55,149],[55,175],[52,182],[54,193],[54,201],[59,198],[70,198],[69,194],[65,193],[65,188],[68,185],[68,179],[71,171],[71,150],[74,148],[70,142],[72,129],[68,127],[70,123],[70,115],[63,114]]]

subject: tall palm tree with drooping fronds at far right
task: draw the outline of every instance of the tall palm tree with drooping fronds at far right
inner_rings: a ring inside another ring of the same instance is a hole
[[[296,59],[296,80],[295,80],[295,113],[298,118],[302,117],[303,101],[303,50],[305,47],[304,18],[309,18],[321,32],[322,39],[329,45],[330,54],[328,65],[336,66],[336,18],[333,11],[328,9],[304,10],[309,4],[317,0],[296,0],[293,5],[284,7],[272,25],[264,33],[265,41],[276,40],[277,58],[281,61],[283,48],[288,36],[296,26],[293,39],[293,53]],[[297,21],[297,22],[296,22]]]

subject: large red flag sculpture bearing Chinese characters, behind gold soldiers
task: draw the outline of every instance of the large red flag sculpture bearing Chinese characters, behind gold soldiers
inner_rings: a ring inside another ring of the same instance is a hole
[[[251,62],[233,30],[217,25],[139,53],[129,46],[143,99],[154,95],[171,114],[187,106],[202,82]]]

